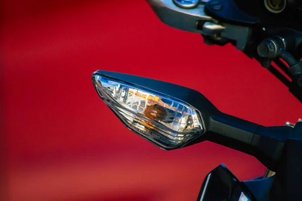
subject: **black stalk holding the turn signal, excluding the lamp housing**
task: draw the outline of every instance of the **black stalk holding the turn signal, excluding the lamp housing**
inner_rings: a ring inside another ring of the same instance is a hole
[[[292,128],[264,127],[221,113],[210,117],[206,139],[255,156],[268,169],[276,171],[283,147]]]

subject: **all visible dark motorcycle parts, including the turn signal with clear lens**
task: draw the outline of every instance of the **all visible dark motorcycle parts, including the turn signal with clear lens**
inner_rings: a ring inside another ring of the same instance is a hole
[[[231,43],[275,75],[302,103],[302,1],[146,0],[166,25],[201,34],[208,45]],[[164,150],[211,141],[256,157],[260,178],[240,181],[221,164],[197,200],[302,200],[302,120],[265,127],[220,112],[190,88],[98,70],[93,85],[132,132]]]

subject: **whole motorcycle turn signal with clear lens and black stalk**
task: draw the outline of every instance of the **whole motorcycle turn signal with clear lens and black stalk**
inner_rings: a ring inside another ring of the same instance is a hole
[[[164,150],[205,140],[255,156],[275,169],[290,127],[263,127],[220,112],[200,92],[155,79],[96,71],[104,103],[131,131]]]

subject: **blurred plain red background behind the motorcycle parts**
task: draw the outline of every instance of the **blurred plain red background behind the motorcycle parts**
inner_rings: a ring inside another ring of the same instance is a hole
[[[3,1],[2,200],[195,200],[220,163],[240,179],[254,157],[209,142],[163,151],[131,133],[99,99],[95,70],[202,92],[222,112],[263,124],[301,117],[301,104],[232,46],[162,24],[144,1]]]

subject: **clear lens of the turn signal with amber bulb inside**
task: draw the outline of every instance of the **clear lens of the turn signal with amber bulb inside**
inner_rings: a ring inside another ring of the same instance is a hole
[[[203,133],[198,112],[177,100],[101,75],[95,76],[95,87],[130,129],[163,148],[179,147]]]

